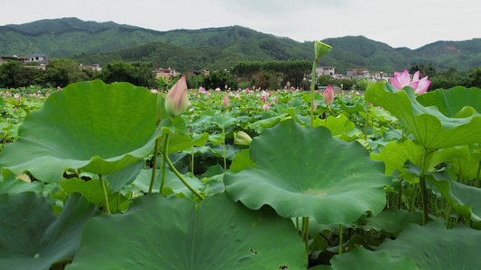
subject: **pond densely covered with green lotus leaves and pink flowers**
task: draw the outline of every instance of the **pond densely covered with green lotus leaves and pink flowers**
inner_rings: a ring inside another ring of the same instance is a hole
[[[481,269],[481,89],[1,91],[1,269]]]

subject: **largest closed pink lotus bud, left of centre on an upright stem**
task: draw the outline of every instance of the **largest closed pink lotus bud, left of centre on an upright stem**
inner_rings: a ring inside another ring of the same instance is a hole
[[[172,86],[165,97],[165,111],[171,116],[176,117],[184,113],[189,105],[189,95],[187,93],[187,82],[185,75]]]

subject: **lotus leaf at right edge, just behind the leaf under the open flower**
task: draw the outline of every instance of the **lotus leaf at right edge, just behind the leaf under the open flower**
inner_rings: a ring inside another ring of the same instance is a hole
[[[455,117],[466,106],[473,108],[476,112],[481,112],[481,89],[476,87],[456,86],[448,90],[438,89],[420,94],[416,100],[425,107],[438,107],[439,112],[448,117]]]

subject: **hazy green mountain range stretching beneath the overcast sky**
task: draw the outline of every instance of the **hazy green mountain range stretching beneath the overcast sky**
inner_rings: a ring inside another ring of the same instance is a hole
[[[465,70],[481,66],[481,39],[437,41],[419,49],[392,48],[364,36],[326,39],[333,49],[319,65],[393,72],[415,64]],[[75,58],[84,65],[150,61],[154,67],[217,69],[238,61],[313,58],[312,42],[276,37],[242,26],[200,30],[153,31],[113,22],[77,18],[42,20],[0,26],[0,55],[42,52],[50,58]]]

